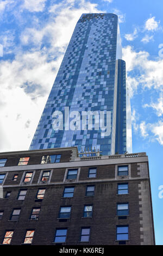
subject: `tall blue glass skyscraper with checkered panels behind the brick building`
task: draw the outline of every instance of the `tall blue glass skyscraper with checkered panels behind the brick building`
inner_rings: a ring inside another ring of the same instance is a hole
[[[80,17],[30,150],[72,146],[79,152],[95,147],[102,155],[131,153],[126,63],[115,14]]]

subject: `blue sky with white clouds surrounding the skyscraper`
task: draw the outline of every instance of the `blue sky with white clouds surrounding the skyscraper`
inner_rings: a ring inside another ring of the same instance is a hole
[[[133,152],[146,152],[149,157],[155,238],[163,245],[161,0],[0,1],[0,150],[29,148],[76,22],[82,13],[103,12],[119,17]]]

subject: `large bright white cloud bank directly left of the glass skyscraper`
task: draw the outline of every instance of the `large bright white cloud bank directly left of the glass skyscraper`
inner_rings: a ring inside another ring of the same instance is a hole
[[[31,12],[43,8],[43,1],[26,1],[24,4]],[[22,31],[21,45],[12,46],[16,47],[15,59],[1,60],[1,151],[28,149],[74,25],[82,13],[99,12],[102,11],[97,9],[97,4],[84,0],[79,1],[78,7],[74,7],[72,0],[61,2],[55,8],[52,5],[46,23],[37,20],[35,28],[26,26]],[[39,18],[31,16],[30,25],[36,19]],[[13,41],[8,35],[5,44],[11,46]],[[31,45],[32,49],[20,50]]]

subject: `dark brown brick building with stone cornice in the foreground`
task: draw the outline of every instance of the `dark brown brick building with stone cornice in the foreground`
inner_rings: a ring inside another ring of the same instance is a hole
[[[1,244],[155,244],[145,153],[17,151],[0,166]]]

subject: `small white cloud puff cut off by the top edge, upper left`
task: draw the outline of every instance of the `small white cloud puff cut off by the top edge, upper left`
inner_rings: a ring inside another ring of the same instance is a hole
[[[24,0],[22,8],[29,11],[43,11],[47,0]]]

